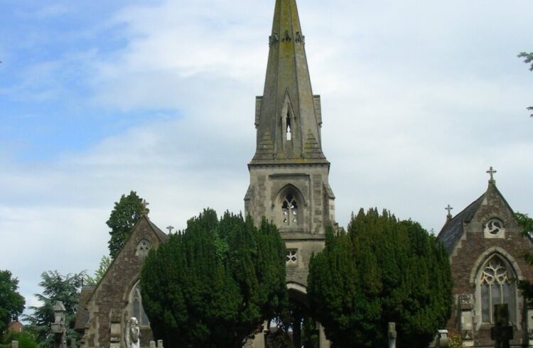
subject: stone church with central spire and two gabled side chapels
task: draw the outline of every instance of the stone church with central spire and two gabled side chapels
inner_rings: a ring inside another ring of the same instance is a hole
[[[289,298],[303,307],[308,305],[311,254],[323,249],[326,227],[340,229],[328,183],[330,163],[322,151],[321,97],[311,88],[305,45],[296,0],[276,0],[264,92],[256,97],[256,151],[248,164],[244,195],[245,214],[257,223],[266,217],[279,227],[287,249]],[[438,234],[450,254],[454,279],[454,305],[446,328],[463,337],[463,347],[492,344],[492,305],[507,303],[512,343],[533,344],[533,308],[515,283],[533,279],[522,259],[524,252],[533,253],[533,244],[520,234],[510,205],[497,190],[495,170],[489,172],[486,192],[455,217],[448,213]],[[102,280],[82,288],[76,320],[82,347],[125,347],[130,317],[139,321],[141,347],[149,346],[153,337],[139,275],[148,251],[166,239],[148,217],[141,217]],[[330,347],[320,324],[317,330],[320,347]],[[247,347],[265,347],[265,332],[257,332]]]

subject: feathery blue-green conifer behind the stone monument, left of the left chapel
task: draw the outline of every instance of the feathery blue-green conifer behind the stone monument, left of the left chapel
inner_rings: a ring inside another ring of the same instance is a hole
[[[66,310],[67,341],[78,338],[74,330],[76,320],[77,303],[80,298],[82,281],[86,277],[85,272],[61,275],[58,271],[48,271],[41,274],[43,281],[39,286],[43,288],[42,294],[36,294],[42,303],[40,307],[30,307],[33,314],[26,315],[25,319],[30,322],[26,327],[38,343],[39,347],[53,347],[54,337],[50,331],[50,324],[54,322],[53,306],[55,301],[63,302]]]

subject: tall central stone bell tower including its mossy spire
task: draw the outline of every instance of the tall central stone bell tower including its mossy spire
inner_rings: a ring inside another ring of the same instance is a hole
[[[256,151],[244,210],[266,217],[286,242],[287,282],[306,293],[308,261],[335,226],[330,163],[322,151],[320,96],[313,94],[296,0],[276,0],[264,92],[256,97]]]

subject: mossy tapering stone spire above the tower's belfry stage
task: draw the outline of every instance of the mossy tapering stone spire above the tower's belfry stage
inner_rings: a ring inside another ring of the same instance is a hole
[[[296,0],[276,0],[269,46],[251,164],[328,163],[321,145],[320,97],[311,89]]]

